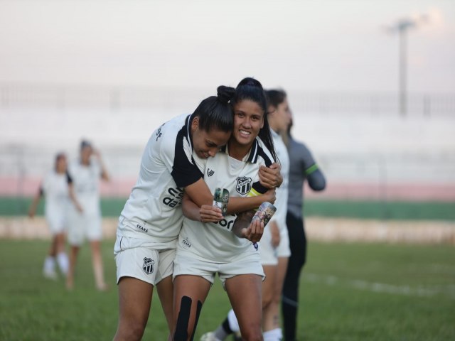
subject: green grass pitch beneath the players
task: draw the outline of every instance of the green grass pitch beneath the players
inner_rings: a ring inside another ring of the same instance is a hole
[[[63,278],[41,276],[47,241],[0,240],[0,340],[112,340],[118,316],[113,244],[102,245],[111,290],[95,290],[85,246],[75,290],[68,292]],[[310,242],[300,289],[299,340],[455,340],[451,245]],[[166,340],[156,298],[144,340]],[[195,340],[228,310],[217,279]]]

